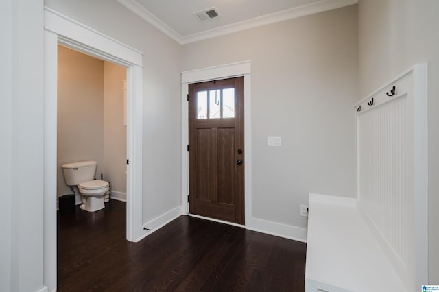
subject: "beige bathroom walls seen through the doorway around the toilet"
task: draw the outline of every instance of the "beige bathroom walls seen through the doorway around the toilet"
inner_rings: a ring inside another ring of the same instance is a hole
[[[126,73],[123,66],[58,45],[57,198],[72,193],[61,166],[95,160],[95,178],[110,182],[105,202],[126,202]]]

